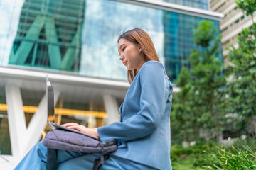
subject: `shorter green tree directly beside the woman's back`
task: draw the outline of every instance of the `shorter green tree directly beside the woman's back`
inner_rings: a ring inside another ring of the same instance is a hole
[[[180,93],[174,94],[171,111],[171,135],[174,143],[192,141],[198,137],[196,118],[191,116],[190,74],[187,67],[181,69],[176,85],[181,88]]]

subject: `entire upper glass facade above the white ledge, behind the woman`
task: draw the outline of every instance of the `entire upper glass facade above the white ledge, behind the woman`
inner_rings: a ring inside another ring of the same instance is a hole
[[[191,2],[196,3],[207,1]],[[0,35],[0,64],[120,80],[127,79],[117,52],[117,38],[124,30],[142,28],[149,33],[173,81],[181,67],[188,65],[188,56],[195,47],[193,28],[204,19],[106,0],[30,0],[22,7],[20,4],[21,10],[11,6],[1,4],[14,15],[9,28],[1,28],[9,37]],[[219,21],[212,22],[219,29]],[[15,30],[15,37],[11,37]]]

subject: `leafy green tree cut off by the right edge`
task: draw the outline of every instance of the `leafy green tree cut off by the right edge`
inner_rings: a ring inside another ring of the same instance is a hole
[[[246,15],[256,11],[255,0],[236,1]],[[252,17],[253,21],[253,17]],[[238,115],[237,122],[246,125],[246,131],[256,135],[256,23],[242,30],[238,36],[238,48],[232,45],[228,54],[228,93],[232,113]]]

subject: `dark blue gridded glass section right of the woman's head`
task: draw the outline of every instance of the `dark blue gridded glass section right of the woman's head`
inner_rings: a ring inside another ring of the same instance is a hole
[[[166,72],[171,81],[178,78],[182,67],[189,67],[188,57],[192,49],[196,48],[193,42],[193,29],[202,20],[213,22],[214,27],[220,28],[218,21],[164,11],[164,59]],[[218,32],[220,34],[219,29]],[[221,47],[216,55],[223,58]]]

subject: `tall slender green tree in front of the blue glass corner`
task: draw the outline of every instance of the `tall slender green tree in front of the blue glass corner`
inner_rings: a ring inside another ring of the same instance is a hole
[[[208,145],[213,136],[216,137],[218,144],[220,143],[220,135],[225,125],[223,60],[216,57],[220,38],[221,35],[217,36],[217,29],[213,28],[213,23],[201,21],[194,30],[194,41],[202,50],[193,50],[189,59],[194,96],[191,103]]]

